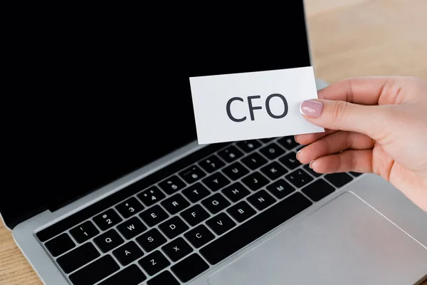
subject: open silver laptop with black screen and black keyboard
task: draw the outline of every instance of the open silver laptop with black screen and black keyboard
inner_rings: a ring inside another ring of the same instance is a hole
[[[427,213],[381,177],[316,173],[293,137],[198,144],[189,77],[313,66],[304,4],[285,6],[105,4],[28,56],[43,67],[31,88],[46,95],[14,110],[25,120],[0,211],[44,284],[426,276]]]

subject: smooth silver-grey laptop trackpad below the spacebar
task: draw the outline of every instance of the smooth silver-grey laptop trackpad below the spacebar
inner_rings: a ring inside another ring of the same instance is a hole
[[[426,266],[426,248],[345,192],[217,271],[209,283],[410,284]]]

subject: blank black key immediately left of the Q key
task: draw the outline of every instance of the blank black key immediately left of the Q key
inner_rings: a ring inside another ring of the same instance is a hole
[[[75,271],[75,269],[88,264],[99,256],[100,252],[95,249],[93,244],[87,242],[82,246],[73,249],[71,252],[64,254],[62,257],[58,257],[56,262],[58,262],[60,268],[68,274]]]

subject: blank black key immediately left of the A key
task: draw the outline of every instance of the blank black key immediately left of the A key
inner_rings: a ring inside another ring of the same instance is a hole
[[[120,266],[108,254],[71,274],[70,280],[74,285],[93,285],[119,269]]]

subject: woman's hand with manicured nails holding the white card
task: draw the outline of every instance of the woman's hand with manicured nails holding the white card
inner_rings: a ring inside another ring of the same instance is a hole
[[[412,77],[352,78],[301,104],[325,133],[296,135],[297,154],[320,173],[373,172],[427,211],[427,83]]]

